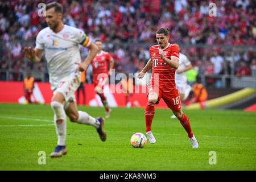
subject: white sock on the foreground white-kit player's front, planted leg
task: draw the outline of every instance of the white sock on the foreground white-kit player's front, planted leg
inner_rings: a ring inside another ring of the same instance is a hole
[[[67,118],[66,118],[64,106],[60,102],[52,101],[51,107],[54,112],[54,122],[55,122],[55,127],[56,127],[56,133],[58,136],[57,145],[65,146]]]

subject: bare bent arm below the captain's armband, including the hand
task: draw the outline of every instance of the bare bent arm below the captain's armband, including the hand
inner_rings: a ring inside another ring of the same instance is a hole
[[[79,68],[77,68],[76,71],[80,71],[80,72],[86,71],[86,69],[88,68],[90,63],[92,63],[92,60],[94,59],[94,57],[98,52],[98,47],[93,42],[91,42],[87,48],[89,49],[89,54],[86,57],[86,59],[82,61],[82,63],[76,63],[77,65],[79,65]]]

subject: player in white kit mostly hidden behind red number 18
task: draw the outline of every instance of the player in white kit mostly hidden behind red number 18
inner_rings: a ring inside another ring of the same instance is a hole
[[[178,44],[175,44],[180,51],[180,47]],[[188,85],[186,71],[192,68],[191,62],[188,60],[188,57],[185,56],[183,53],[180,52],[180,61],[179,61],[179,68],[175,72],[175,83],[177,89],[180,93],[180,100],[185,101],[189,93],[191,92],[191,86]],[[176,118],[175,115],[171,116],[172,119]]]

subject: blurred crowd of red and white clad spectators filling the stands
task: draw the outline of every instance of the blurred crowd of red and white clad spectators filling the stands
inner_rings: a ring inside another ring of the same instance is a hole
[[[40,2],[0,1],[1,70],[47,72],[45,61],[36,65],[25,63],[22,54],[24,44],[31,41],[34,46],[38,32],[47,27],[44,17],[38,16]],[[250,76],[256,69],[254,0],[57,2],[64,7],[65,24],[81,28],[92,40],[100,38],[104,42],[104,50],[115,60],[116,72],[135,73],[143,68],[160,27],[170,29],[170,43],[181,45],[181,52],[199,74]],[[217,16],[209,16],[210,2],[216,3]],[[208,47],[199,48],[199,44]],[[209,48],[215,44],[222,46]],[[232,52],[223,46],[249,48]],[[81,56],[86,54],[86,49],[81,48]],[[5,80],[5,75],[1,73],[0,79]],[[14,73],[10,80],[20,80],[19,75]]]

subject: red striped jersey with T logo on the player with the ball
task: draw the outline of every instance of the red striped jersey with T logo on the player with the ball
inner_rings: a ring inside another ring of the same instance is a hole
[[[156,79],[156,73],[159,77],[159,89],[163,92],[170,92],[172,89],[176,89],[175,84],[175,72],[176,69],[171,68],[164,60],[159,56],[159,46],[150,47],[150,55],[153,61],[152,65],[152,79]],[[176,45],[168,44],[167,48],[162,50],[164,52],[164,57],[171,59],[171,57],[176,57],[179,59],[179,48]],[[154,88],[154,81],[152,81],[152,86]]]

